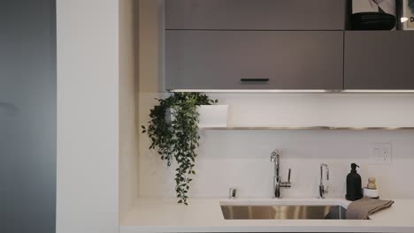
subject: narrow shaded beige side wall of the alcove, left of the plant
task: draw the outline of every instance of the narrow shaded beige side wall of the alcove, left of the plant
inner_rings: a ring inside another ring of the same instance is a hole
[[[138,1],[119,0],[119,219],[138,195]]]

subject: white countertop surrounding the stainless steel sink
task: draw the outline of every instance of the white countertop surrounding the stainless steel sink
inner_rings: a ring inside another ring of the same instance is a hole
[[[371,220],[225,220],[222,203],[238,205],[341,205],[345,199],[137,199],[120,222],[120,233],[137,232],[414,232],[414,199],[395,204]]]

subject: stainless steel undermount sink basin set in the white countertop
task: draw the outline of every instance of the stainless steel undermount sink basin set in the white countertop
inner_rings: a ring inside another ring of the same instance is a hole
[[[231,219],[345,219],[341,206],[221,206],[224,218]]]

